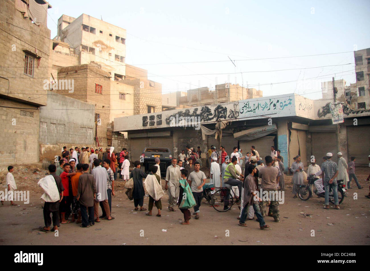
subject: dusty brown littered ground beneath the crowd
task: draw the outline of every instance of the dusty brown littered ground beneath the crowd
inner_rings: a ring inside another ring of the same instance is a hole
[[[364,181],[369,168],[356,168],[357,177],[364,189],[350,189],[348,198],[340,205],[341,210],[323,209],[323,198],[313,196],[308,201],[292,198],[289,188],[291,176],[285,176],[288,187],[285,203],[280,205],[279,223],[266,217],[269,229],[260,230],[258,222],[247,221],[248,227],[238,226],[236,217],[239,209],[234,205],[227,212],[217,212],[203,200],[199,220],[190,220],[190,225],[179,225],[183,219],[177,210],[167,209],[167,194],[162,198],[162,217],[145,216],[145,212],[135,212],[134,203],[124,194],[124,182],[116,182],[116,196],[112,199],[114,221],[101,220],[93,227],[81,228],[77,224],[64,224],[59,228],[59,236],[36,230],[43,226],[43,191],[37,187],[37,180],[46,171],[37,171],[41,165],[20,166],[14,177],[18,190],[30,190],[29,204],[17,202],[20,206],[0,205],[0,244],[2,245],[369,245],[370,244],[370,200],[365,198],[369,192],[369,182]],[[27,169],[27,170],[26,170]],[[34,171],[37,174],[34,174]],[[5,174],[0,173],[2,190],[5,189]],[[165,182],[162,180],[162,185]],[[353,182],[354,185],[354,182]],[[358,199],[353,199],[353,193]],[[144,199],[148,207],[148,197]],[[157,210],[154,207],[153,213]],[[311,214],[304,216],[300,212]],[[101,210],[100,210],[101,214]],[[334,225],[327,225],[328,223]],[[315,236],[311,237],[314,229]],[[143,231],[141,231],[143,230]],[[166,231],[163,231],[166,230]],[[229,231],[229,237],[226,235]],[[144,237],[141,235],[144,234]]]

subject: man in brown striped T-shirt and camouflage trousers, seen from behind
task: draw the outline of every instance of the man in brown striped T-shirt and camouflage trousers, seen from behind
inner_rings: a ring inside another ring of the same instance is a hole
[[[275,198],[272,200],[272,198],[266,200],[266,196],[260,195],[260,198],[262,198],[262,202],[259,202],[259,208],[262,214],[262,217],[265,217],[266,214],[266,205],[269,204],[270,200],[270,212],[272,214],[272,217],[274,218],[275,222],[280,221],[280,212],[279,212],[279,201],[277,198],[277,184],[280,181],[279,175],[279,168],[276,168],[272,166],[272,157],[270,155],[265,157],[266,166],[263,168],[260,168],[258,170],[258,177],[262,179],[261,181],[261,187],[262,187],[262,193],[266,193],[264,191],[273,191],[275,193]],[[276,191],[276,192],[275,192]]]

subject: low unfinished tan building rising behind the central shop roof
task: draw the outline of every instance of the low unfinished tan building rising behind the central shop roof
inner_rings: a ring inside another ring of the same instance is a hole
[[[179,97],[177,106],[214,105],[259,97],[262,97],[262,90],[224,83],[215,85],[215,90],[209,87],[189,89],[186,96]]]

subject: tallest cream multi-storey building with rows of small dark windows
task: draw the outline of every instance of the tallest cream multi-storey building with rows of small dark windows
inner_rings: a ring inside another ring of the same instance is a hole
[[[126,57],[126,30],[87,14],[78,18],[62,15],[58,19],[55,42],[69,44],[79,56],[80,65],[100,64],[111,79],[123,78]],[[72,65],[68,65],[72,66]]]

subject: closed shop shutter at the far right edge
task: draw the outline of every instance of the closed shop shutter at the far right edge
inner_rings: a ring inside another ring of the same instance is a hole
[[[348,160],[356,157],[356,166],[369,166],[370,125],[347,126]]]

